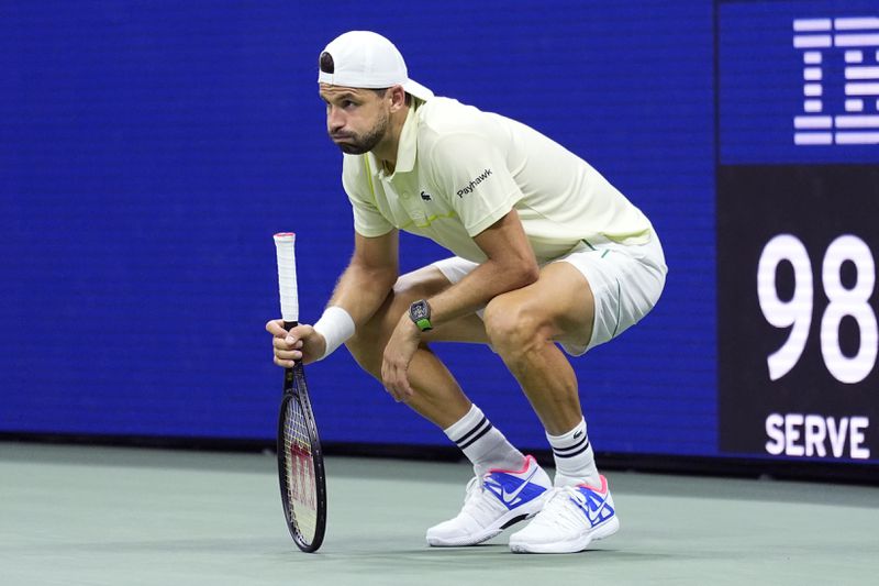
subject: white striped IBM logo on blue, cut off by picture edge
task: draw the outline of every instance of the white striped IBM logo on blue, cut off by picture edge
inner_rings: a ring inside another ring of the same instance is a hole
[[[793,118],[794,144],[879,144],[879,18],[797,19],[793,32],[803,52],[804,97]],[[824,96],[825,57],[845,59],[842,100]]]

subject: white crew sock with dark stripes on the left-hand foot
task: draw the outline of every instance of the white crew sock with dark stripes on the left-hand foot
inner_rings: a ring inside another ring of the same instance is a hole
[[[443,431],[472,462],[479,478],[490,468],[521,469],[525,462],[522,452],[507,441],[503,433],[491,424],[476,405],[470,407],[466,416]]]

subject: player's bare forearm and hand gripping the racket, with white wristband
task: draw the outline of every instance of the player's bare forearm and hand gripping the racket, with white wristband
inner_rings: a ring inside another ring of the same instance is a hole
[[[355,330],[369,321],[397,283],[398,247],[397,230],[376,237],[355,234],[354,255],[342,273],[327,306],[347,312]],[[298,360],[309,364],[323,357],[326,352],[326,340],[313,325],[299,324],[287,332],[282,320],[271,320],[266,324],[266,330],[272,335],[275,364],[278,366],[289,368]],[[332,332],[332,328],[327,331]],[[340,336],[338,342],[342,340],[343,336]]]

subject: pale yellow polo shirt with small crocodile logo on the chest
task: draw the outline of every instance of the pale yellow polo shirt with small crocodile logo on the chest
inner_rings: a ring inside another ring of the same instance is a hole
[[[649,242],[641,210],[558,143],[457,100],[413,101],[393,174],[371,153],[344,155],[359,234],[398,228],[481,263],[474,236],[515,209],[541,264],[583,244]]]

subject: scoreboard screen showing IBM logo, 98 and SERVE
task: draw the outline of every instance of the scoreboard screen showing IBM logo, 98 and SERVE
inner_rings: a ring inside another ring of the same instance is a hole
[[[720,450],[879,460],[879,13],[717,10]]]

